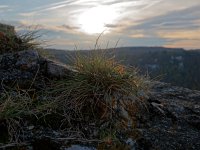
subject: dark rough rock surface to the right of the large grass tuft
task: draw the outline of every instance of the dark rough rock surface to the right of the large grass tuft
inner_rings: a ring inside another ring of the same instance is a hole
[[[138,129],[149,149],[200,149],[200,91],[157,82]]]

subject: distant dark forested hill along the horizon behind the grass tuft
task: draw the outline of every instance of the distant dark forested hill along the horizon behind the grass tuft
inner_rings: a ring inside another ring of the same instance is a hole
[[[62,63],[70,63],[74,51],[46,49],[48,55]],[[200,50],[164,47],[121,47],[109,49],[123,64],[136,66],[152,79],[200,90]],[[80,51],[87,53],[89,51]]]

